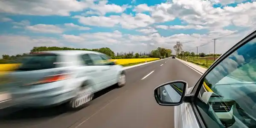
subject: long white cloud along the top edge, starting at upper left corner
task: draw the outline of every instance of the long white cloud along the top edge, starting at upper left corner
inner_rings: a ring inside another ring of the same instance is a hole
[[[0,12],[19,15],[61,15],[70,16],[70,12],[79,12],[84,9],[92,9],[98,14],[105,15],[108,12],[122,13],[128,5],[118,6],[108,4],[108,0],[101,0],[98,4],[95,0],[18,0],[0,1]]]

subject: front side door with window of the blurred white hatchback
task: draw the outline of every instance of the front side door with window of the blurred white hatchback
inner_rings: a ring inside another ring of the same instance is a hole
[[[93,66],[100,71],[100,75],[97,76],[99,79],[99,86],[106,87],[111,84],[111,65],[108,60],[102,58],[99,54],[90,53],[90,58],[93,60]]]

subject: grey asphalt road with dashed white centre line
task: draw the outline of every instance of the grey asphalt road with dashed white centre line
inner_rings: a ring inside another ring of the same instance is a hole
[[[201,76],[172,58],[126,73],[124,87],[102,90],[80,111],[66,111],[63,106],[20,111],[6,108],[0,111],[6,113],[0,117],[0,128],[174,128],[174,108],[155,102],[154,87],[174,80],[185,80],[191,87]]]

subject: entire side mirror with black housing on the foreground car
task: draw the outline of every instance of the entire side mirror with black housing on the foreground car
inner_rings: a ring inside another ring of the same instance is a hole
[[[154,89],[154,98],[159,105],[176,106],[183,103],[187,89],[186,81],[171,81]]]

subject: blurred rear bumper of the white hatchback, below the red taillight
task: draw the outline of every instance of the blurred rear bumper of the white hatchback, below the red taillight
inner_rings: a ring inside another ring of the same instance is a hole
[[[31,88],[14,87],[10,90],[12,105],[19,107],[44,107],[65,102],[76,96],[76,88],[65,88],[68,81],[35,85]]]

